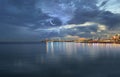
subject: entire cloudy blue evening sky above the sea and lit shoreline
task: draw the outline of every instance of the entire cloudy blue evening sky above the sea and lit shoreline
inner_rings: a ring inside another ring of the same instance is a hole
[[[120,33],[120,0],[0,0],[0,41]]]

